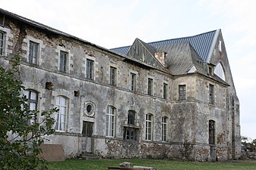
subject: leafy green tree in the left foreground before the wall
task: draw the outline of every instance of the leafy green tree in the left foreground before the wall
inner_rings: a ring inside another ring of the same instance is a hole
[[[0,66],[0,169],[45,169],[38,157],[42,152],[39,146],[45,135],[55,132],[51,115],[58,109],[30,110],[18,71],[20,58],[10,62],[10,68]],[[37,119],[39,114],[42,122]]]

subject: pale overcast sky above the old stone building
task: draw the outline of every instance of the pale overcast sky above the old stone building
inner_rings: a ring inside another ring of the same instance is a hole
[[[240,100],[241,134],[256,138],[256,2],[0,0],[0,8],[104,48],[221,29]]]

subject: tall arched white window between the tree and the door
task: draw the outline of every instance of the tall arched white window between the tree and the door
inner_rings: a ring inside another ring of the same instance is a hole
[[[67,116],[67,98],[64,96],[57,96],[56,107],[58,108],[58,113],[55,113],[55,130],[65,131]]]

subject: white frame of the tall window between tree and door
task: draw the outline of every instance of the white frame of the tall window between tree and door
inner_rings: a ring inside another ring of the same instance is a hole
[[[65,100],[65,104],[61,104],[61,99]],[[55,131],[64,132],[67,129],[66,126],[67,126],[67,113],[68,113],[68,98],[62,95],[56,96],[55,107],[57,107],[59,110],[57,113],[55,113]],[[64,109],[64,114],[62,112],[63,109]],[[64,120],[61,120],[63,118]]]

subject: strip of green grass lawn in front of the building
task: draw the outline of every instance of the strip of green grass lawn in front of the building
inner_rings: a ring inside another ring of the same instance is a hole
[[[157,170],[252,170],[256,162],[187,162],[155,159],[67,159],[64,162],[48,162],[49,170],[106,170],[108,166],[119,166],[121,162],[133,165],[152,166]]]

